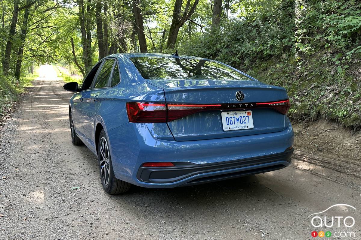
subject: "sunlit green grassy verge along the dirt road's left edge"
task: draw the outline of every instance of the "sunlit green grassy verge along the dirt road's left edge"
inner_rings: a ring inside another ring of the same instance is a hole
[[[26,92],[27,87],[32,86],[31,82],[37,77],[37,69],[34,74],[22,76],[18,83],[16,83],[17,81],[14,77],[5,77],[3,74],[0,74],[0,118],[5,117],[13,110],[14,104]]]

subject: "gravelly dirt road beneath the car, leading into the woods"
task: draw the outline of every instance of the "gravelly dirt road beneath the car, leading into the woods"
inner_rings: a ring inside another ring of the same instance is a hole
[[[41,71],[18,112],[0,127],[0,239],[298,240],[341,229],[356,236],[340,239],[361,239],[360,159],[332,160],[297,147],[292,165],[275,172],[104,193],[96,157],[71,144],[71,94],[52,67]],[[355,226],[313,227],[308,216],[334,204],[357,209],[335,209],[353,216]]]

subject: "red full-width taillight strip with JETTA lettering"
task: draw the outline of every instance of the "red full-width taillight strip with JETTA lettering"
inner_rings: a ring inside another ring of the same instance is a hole
[[[156,123],[171,122],[193,113],[208,110],[238,110],[254,108],[272,108],[287,114],[290,101],[282,100],[267,103],[222,103],[222,104],[187,104],[187,103],[150,103],[130,102],[126,104],[129,122]]]

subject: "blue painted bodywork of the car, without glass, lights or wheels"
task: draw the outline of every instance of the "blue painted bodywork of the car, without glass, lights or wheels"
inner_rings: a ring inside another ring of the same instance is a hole
[[[98,124],[103,126],[109,139],[114,174],[118,179],[143,187],[175,187],[204,175],[212,176],[220,173],[236,172],[240,171],[240,169],[205,173],[167,184],[141,182],[136,177],[137,171],[144,162],[217,163],[282,153],[292,146],[293,130],[287,116],[283,114],[271,119],[274,121],[274,126],[276,126],[273,127],[272,131],[269,131],[267,127],[263,129],[255,127],[253,130],[235,130],[223,133],[219,122],[220,119],[212,118],[209,126],[217,125],[217,129],[214,132],[209,132],[209,135],[213,136],[208,136],[207,139],[204,139],[207,134],[198,135],[194,132],[199,126],[189,125],[186,127],[186,131],[178,131],[178,136],[177,133],[173,133],[173,135],[175,134],[173,136],[168,125],[171,126],[175,121],[168,124],[130,123],[126,113],[126,102],[129,101],[165,102],[169,98],[186,99],[187,101],[190,99],[189,103],[234,103],[234,99],[231,99],[227,93],[245,87],[247,87],[247,90],[244,91],[246,97],[253,98],[252,100],[255,101],[275,101],[288,98],[286,91],[282,87],[266,85],[257,80],[242,82],[242,84],[239,81],[196,80],[194,86],[190,86],[192,84],[189,84],[188,80],[172,80],[171,82],[166,80],[145,80],[129,60],[129,58],[137,56],[169,57],[169,55],[164,54],[136,53],[111,55],[110,57],[116,58],[119,63],[122,84],[103,89],[89,89],[77,92],[69,101],[75,131],[86,146],[96,155],[95,130]],[[254,78],[252,79],[254,80]],[[182,88],[185,81],[188,81],[188,87]],[[170,84],[178,84],[180,87],[177,88],[174,85],[170,87]],[[238,84],[238,86],[234,86],[235,84]],[[260,94],[257,94],[257,96],[252,95],[253,91],[257,92],[258,89],[264,88],[272,91],[267,94],[263,93],[261,96]],[[187,92],[184,92],[185,90]],[[200,91],[212,94],[212,101],[200,98]],[[257,113],[255,111],[256,116],[258,114],[257,119],[254,118],[255,125],[260,120],[259,117],[266,117],[267,111],[273,110],[257,109],[257,111]],[[205,112],[199,114],[215,113]],[[220,113],[218,114],[220,116]],[[196,114],[193,115],[196,116]],[[195,116],[188,117],[194,118]],[[178,120],[182,121],[182,119]],[[185,129],[181,121],[178,121],[180,124],[178,127]],[[187,131],[190,134],[187,134]],[[244,136],[247,134],[245,131],[253,132],[249,133],[252,135]],[[272,164],[288,166],[289,163],[282,161],[282,163],[274,162],[268,165]],[[260,168],[262,166],[257,165],[247,168]]]

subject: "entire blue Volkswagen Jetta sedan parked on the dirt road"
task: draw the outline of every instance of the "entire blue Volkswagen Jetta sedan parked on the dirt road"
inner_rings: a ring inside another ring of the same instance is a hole
[[[109,194],[274,171],[291,163],[293,130],[282,87],[192,56],[114,54],[69,101],[71,140],[97,157]]]

